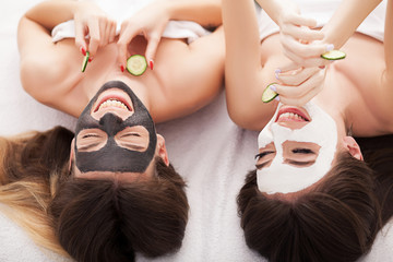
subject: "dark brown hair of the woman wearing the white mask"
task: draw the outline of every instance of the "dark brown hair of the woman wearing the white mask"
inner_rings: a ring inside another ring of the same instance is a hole
[[[249,172],[238,195],[247,245],[270,261],[356,261],[382,225],[374,178],[366,163],[340,153],[312,192],[283,201],[264,196],[257,170]]]

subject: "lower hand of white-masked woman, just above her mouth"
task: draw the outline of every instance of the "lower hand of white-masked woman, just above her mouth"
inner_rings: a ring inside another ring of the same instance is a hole
[[[303,106],[318,95],[324,85],[325,68],[299,68],[290,63],[276,72],[278,83],[273,88],[279,102],[290,106]]]

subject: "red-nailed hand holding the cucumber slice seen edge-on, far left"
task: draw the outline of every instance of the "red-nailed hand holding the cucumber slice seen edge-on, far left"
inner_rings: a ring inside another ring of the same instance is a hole
[[[116,37],[116,21],[110,19],[97,5],[80,2],[74,11],[75,45],[84,53],[93,58],[99,47],[104,47]]]

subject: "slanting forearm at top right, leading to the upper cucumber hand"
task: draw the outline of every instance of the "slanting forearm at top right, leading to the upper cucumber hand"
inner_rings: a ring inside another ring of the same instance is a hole
[[[329,23],[322,28],[324,41],[340,49],[381,1],[343,0]]]

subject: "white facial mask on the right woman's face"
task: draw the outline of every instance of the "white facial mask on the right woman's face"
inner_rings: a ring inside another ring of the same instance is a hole
[[[303,107],[311,117],[311,121],[301,129],[295,130],[274,122],[281,105],[258,136],[259,148],[272,142],[276,148],[276,155],[271,165],[257,170],[258,188],[267,194],[297,192],[319,181],[331,169],[337,146],[335,121],[315,104],[309,102]],[[283,143],[285,141],[311,142],[321,146],[315,163],[307,167],[284,164]]]

